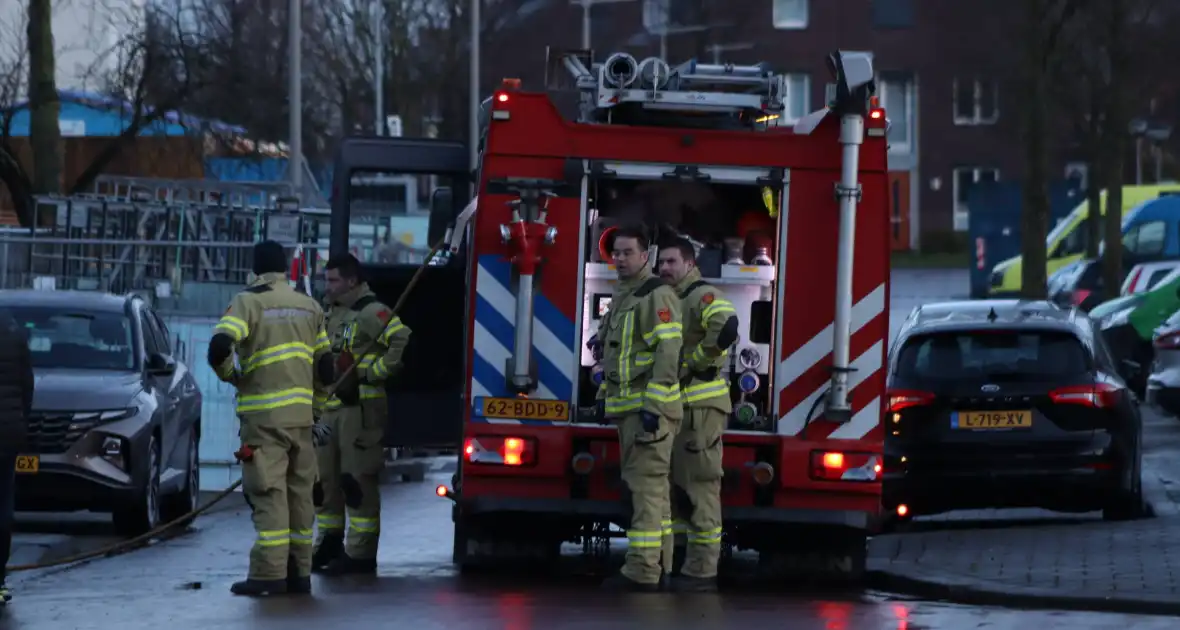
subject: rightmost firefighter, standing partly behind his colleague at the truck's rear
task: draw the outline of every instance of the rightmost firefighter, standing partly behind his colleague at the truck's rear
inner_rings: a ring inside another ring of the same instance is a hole
[[[686,533],[687,549],[673,586],[710,591],[716,589],[721,554],[721,441],[733,412],[721,368],[738,340],[738,314],[721,291],[701,280],[693,243],[664,245],[657,264],[660,277],[676,289],[684,317],[684,420],[671,454],[671,513],[675,529]]]

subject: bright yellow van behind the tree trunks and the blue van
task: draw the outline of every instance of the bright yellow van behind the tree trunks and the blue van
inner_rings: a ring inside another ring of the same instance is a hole
[[[1161,192],[1180,193],[1176,184],[1155,184],[1149,186],[1122,186],[1122,216],[1127,222],[1128,212],[1160,196]],[[1102,202],[1099,210],[1106,215],[1106,191],[1102,191]],[[1089,217],[1089,209],[1083,199],[1066,218],[1061,219],[1049,231],[1045,238],[1048,249],[1048,268],[1045,277],[1067,264],[1081,260],[1086,255],[1086,230]],[[1015,295],[1021,290],[1021,257],[1014,256],[1007,261],[1001,261],[991,268],[989,293],[994,297]]]

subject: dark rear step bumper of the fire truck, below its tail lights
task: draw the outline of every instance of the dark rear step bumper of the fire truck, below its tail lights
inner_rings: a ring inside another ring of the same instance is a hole
[[[591,499],[519,499],[500,497],[463,497],[459,506],[464,514],[530,513],[549,517],[623,520],[623,506],[617,501]],[[852,510],[802,510],[785,507],[725,507],[726,525],[821,525],[868,531],[873,514]]]

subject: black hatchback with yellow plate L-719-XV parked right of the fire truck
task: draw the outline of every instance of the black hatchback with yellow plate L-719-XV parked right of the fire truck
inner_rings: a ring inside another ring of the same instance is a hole
[[[1142,510],[1139,407],[1089,317],[1049,302],[916,308],[890,353],[884,503]]]

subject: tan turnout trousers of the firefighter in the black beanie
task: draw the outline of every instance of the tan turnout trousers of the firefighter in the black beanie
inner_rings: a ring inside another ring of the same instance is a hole
[[[257,533],[250,550],[251,579],[284,579],[288,565],[290,575],[312,575],[312,491],[316,478],[312,427],[282,427],[271,421],[283,411],[241,415],[242,444],[254,451],[254,457],[242,462],[242,493]]]

